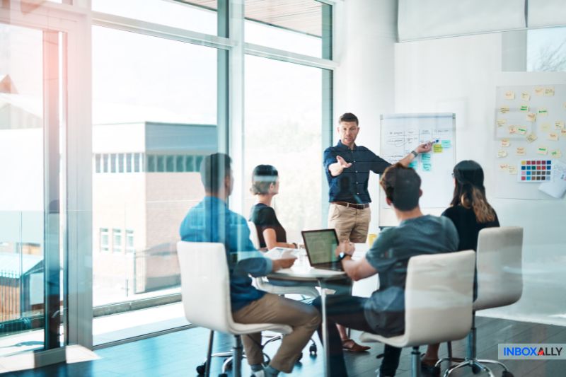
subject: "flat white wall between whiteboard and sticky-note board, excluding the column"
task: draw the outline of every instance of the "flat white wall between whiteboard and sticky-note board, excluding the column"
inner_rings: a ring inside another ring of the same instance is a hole
[[[478,161],[502,226],[524,227],[523,297],[513,306],[483,314],[566,324],[565,200],[493,197],[499,173],[493,137],[495,87],[502,80],[502,50],[499,33],[396,45],[395,112],[455,112],[456,160]]]

